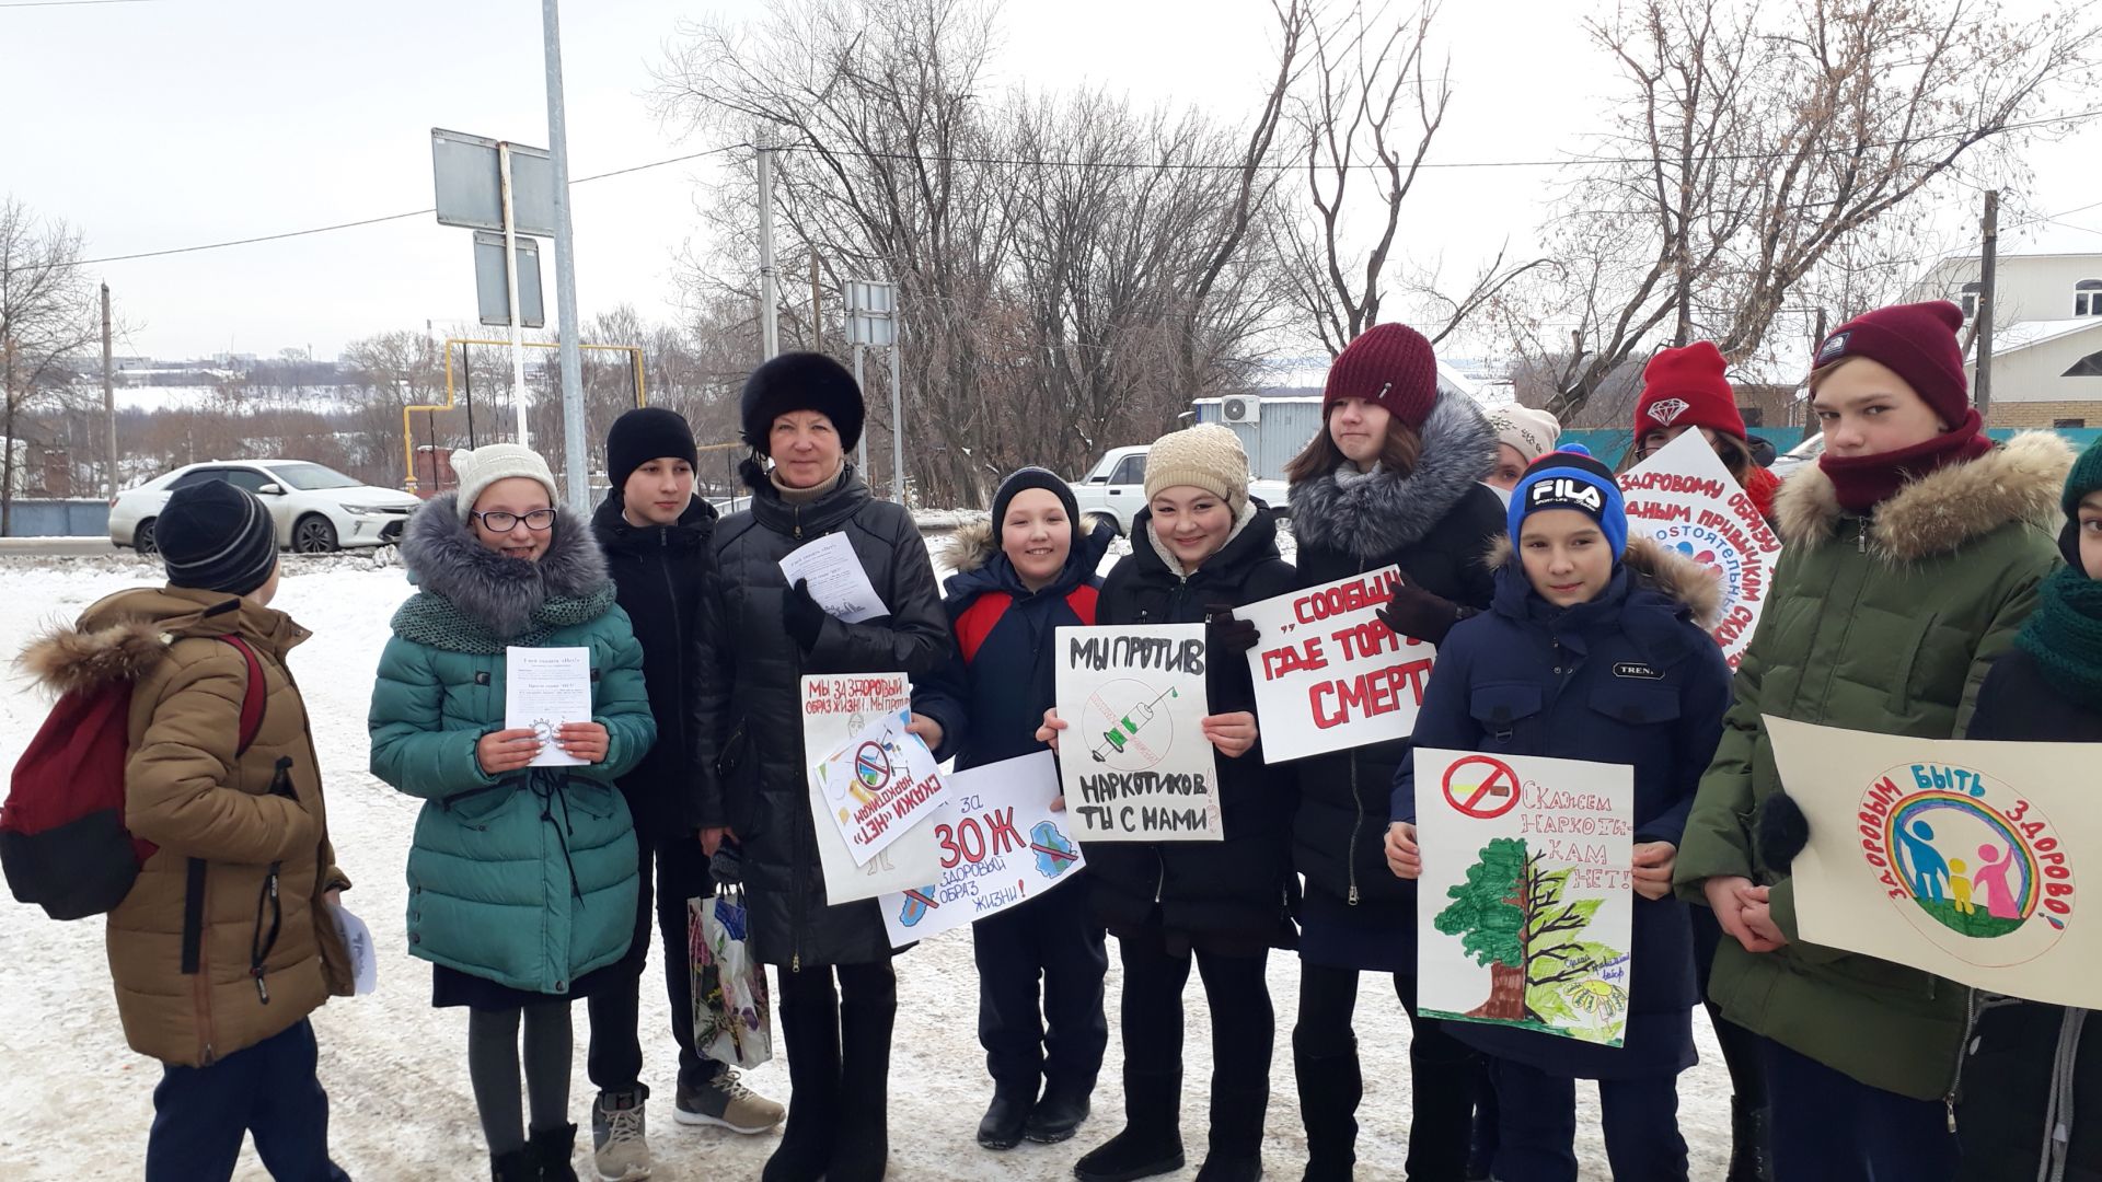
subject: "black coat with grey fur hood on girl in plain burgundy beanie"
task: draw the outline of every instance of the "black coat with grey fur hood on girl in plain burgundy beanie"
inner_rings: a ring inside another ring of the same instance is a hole
[[[1408,475],[1377,471],[1337,482],[1328,473],[1295,484],[1301,587],[1400,566],[1434,595],[1488,608],[1495,595],[1488,549],[1503,536],[1505,513],[1480,480],[1495,458],[1497,433],[1474,402],[1440,393],[1423,423],[1421,461]],[[1364,909],[1358,913],[1364,923],[1354,928],[1415,923],[1415,883],[1387,873],[1381,850],[1387,789],[1406,753],[1408,740],[1392,740],[1293,763],[1299,776],[1293,862],[1310,892]],[[1381,957],[1366,959],[1377,963]]]

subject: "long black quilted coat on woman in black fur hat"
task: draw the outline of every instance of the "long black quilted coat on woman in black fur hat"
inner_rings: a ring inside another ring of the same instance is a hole
[[[780,559],[843,532],[889,616],[826,616],[803,652],[782,627]],[[803,753],[805,673],[904,673],[948,660],[948,616],[912,513],[877,501],[847,465],[839,488],[788,505],[759,482],[753,507],[715,528],[715,587],[702,599],[696,753],[702,822],[727,820],[744,854],[755,955],[769,965],[870,963],[891,955],[877,900],[828,906]]]

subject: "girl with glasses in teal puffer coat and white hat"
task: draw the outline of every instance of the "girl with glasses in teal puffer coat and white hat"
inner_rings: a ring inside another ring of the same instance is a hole
[[[467,1075],[498,1182],[568,1178],[570,1003],[618,986],[635,930],[635,827],[614,780],[656,740],[643,650],[599,543],[555,507],[517,444],[454,452],[460,490],[408,524],[420,587],[393,618],[372,690],[372,774],[423,797],[408,856],[410,955],[433,1005],[465,1005]],[[507,652],[589,650],[591,719],[542,742],[504,726]],[[526,1031],[530,1136],[519,1113]]]

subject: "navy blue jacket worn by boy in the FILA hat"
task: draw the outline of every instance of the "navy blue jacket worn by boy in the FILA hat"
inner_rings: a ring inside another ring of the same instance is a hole
[[[1730,709],[1730,667],[1694,623],[1711,618],[1717,599],[1705,568],[1644,538],[1629,538],[1627,559],[1598,599],[1568,610],[1541,599],[1513,557],[1497,570],[1490,610],[1457,625],[1438,650],[1413,745],[1629,763],[1635,841],[1677,845]],[[1394,778],[1396,820],[1415,822],[1415,787],[1410,753]],[[1482,1052],[1585,1079],[1682,1071],[1694,1060],[1688,1014],[1698,1001],[1686,904],[1635,896],[1629,953],[1623,1047],[1486,1024],[1455,1022],[1452,1033]]]

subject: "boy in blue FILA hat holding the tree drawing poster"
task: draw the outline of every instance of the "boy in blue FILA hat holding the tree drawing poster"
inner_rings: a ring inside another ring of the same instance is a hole
[[[1623,1045],[1471,1022],[1452,1035],[1488,1056],[1495,1178],[1574,1182],[1574,1081],[1595,1079],[1612,1176],[1684,1182],[1677,1075],[1694,1064],[1696,993],[1692,928],[1671,896],[1671,860],[1730,707],[1730,669],[1707,635],[1722,587],[1677,551],[1629,538],[1619,484],[1576,448],[1526,469],[1511,490],[1509,536],[1516,551],[1499,549],[1495,606],[1457,625],[1438,652],[1413,749],[1394,778],[1387,862],[1402,879],[1423,869],[1415,789],[1419,774],[1436,776],[1419,768],[1423,749],[1633,766],[1633,972]]]

